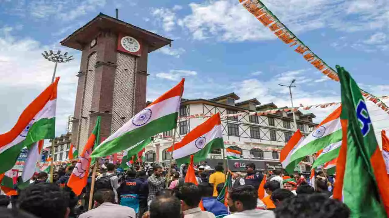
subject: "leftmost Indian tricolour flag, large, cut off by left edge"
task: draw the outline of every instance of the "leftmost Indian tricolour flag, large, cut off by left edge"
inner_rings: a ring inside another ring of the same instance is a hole
[[[55,137],[55,109],[59,78],[26,107],[15,126],[0,135],[0,174],[11,169],[23,147]]]

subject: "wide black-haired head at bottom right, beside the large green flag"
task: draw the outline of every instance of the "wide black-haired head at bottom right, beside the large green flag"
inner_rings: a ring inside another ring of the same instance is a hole
[[[286,199],[274,210],[276,218],[348,218],[350,209],[342,202],[321,194],[298,195]]]

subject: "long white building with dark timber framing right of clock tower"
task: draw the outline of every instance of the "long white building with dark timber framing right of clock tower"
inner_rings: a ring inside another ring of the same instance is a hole
[[[236,102],[239,99],[235,93],[214,99],[182,99],[179,116],[189,117],[195,114],[210,116],[217,112],[225,115],[279,108],[274,103],[261,104],[257,99]],[[228,161],[230,170],[245,171],[245,164],[247,163],[255,163],[257,169],[260,170],[280,169],[279,153],[294,131],[298,128],[304,135],[308,135],[317,126],[312,121],[315,118],[314,114],[303,114],[301,111],[296,111],[295,115],[297,126],[294,126],[292,112],[277,112],[261,116],[247,114],[226,119],[222,118],[225,148],[242,152],[241,160]],[[205,120],[205,118],[179,119],[175,135],[174,130],[160,133],[152,144],[146,146],[146,161],[168,162],[170,153],[166,149],[172,145],[172,138],[175,137],[176,140],[180,140]],[[211,152],[207,163],[213,167],[222,162],[222,152],[225,151],[219,149]],[[309,163],[311,159],[306,157],[304,161]],[[302,165],[301,170],[310,170],[305,164]]]

